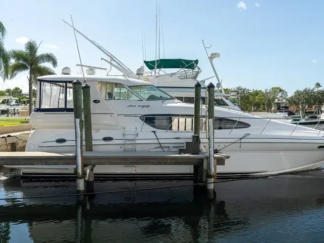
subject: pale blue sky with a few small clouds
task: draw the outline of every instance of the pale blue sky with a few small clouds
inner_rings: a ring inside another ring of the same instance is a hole
[[[224,88],[297,89],[324,86],[324,1],[301,0],[157,0],[160,6],[160,58],[198,59],[198,79],[213,76],[203,46],[220,53],[214,59]],[[154,0],[0,0],[0,21],[7,28],[5,45],[23,49],[28,39],[42,44],[39,53],[58,59],[57,73],[70,67],[80,72],[73,29],[62,19],[111,52],[134,72],[143,64],[142,31],[146,60],[155,60]],[[107,58],[79,34],[84,65],[109,67]],[[164,48],[163,48],[164,39]],[[158,56],[158,54],[157,54]],[[101,73],[101,71],[97,71]],[[112,70],[110,73],[119,74]],[[215,78],[209,81],[216,84]],[[28,91],[27,73],[1,82],[0,89]]]

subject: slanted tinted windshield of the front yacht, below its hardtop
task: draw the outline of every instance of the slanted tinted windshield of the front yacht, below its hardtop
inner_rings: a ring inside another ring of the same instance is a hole
[[[136,92],[136,94],[142,96],[145,100],[176,99],[153,85],[129,86],[129,88]]]

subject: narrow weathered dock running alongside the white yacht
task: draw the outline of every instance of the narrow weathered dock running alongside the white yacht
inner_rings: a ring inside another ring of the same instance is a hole
[[[178,154],[174,152],[83,152],[88,165],[192,165],[202,166],[208,153]],[[214,160],[228,158],[215,154]],[[0,166],[16,165],[75,165],[75,153],[0,152]],[[217,161],[217,165],[222,165]]]

